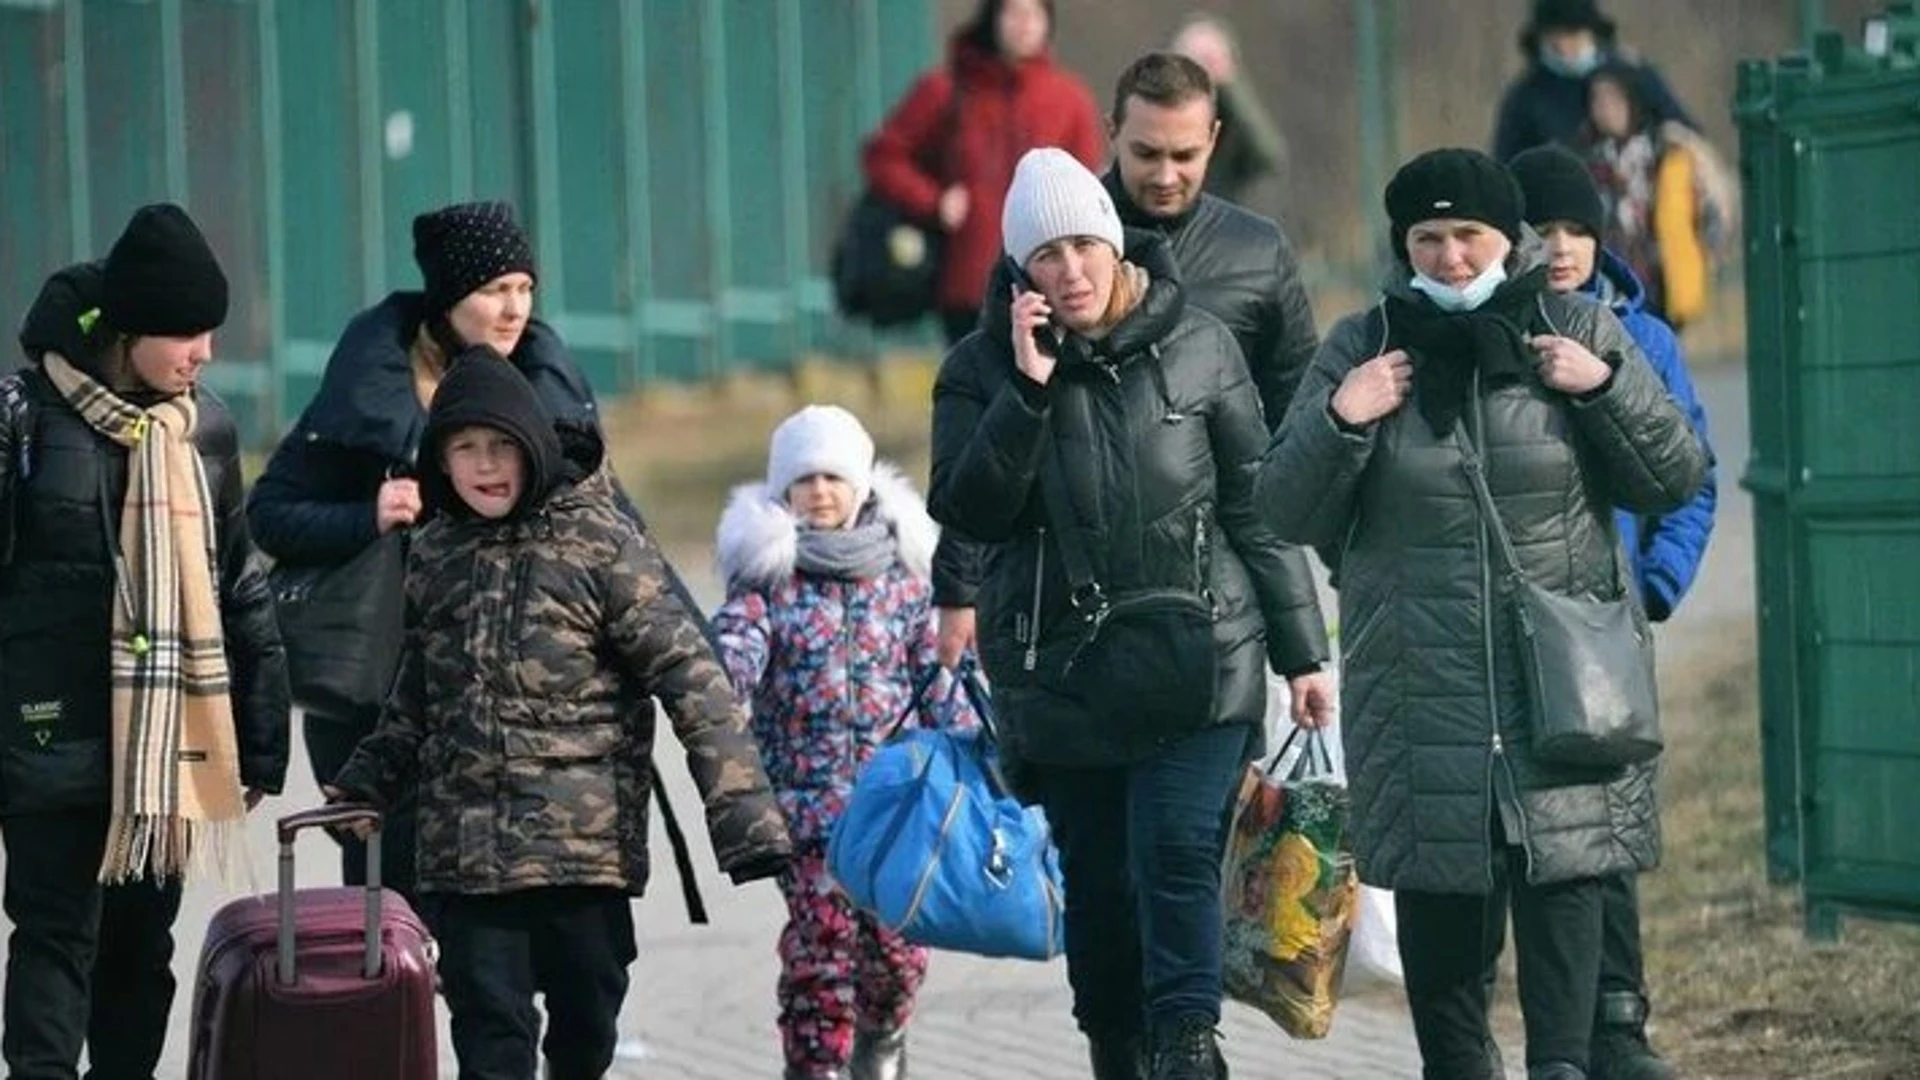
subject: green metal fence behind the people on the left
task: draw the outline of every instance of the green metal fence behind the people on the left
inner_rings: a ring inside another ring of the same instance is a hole
[[[918,0],[0,0],[0,311],[169,198],[232,279],[209,379],[252,436],[409,223],[511,200],[605,392],[864,342],[824,279],[858,144],[935,52]]]

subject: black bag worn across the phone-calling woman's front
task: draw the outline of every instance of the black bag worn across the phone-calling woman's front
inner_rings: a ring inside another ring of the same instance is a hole
[[[1064,479],[1041,469],[1041,496],[1066,567],[1071,611],[1033,651],[1035,676],[1116,730],[1139,732],[1150,751],[1213,719],[1213,605],[1185,588],[1108,594],[1085,538],[1073,528]],[[1043,538],[1044,544],[1044,538]]]

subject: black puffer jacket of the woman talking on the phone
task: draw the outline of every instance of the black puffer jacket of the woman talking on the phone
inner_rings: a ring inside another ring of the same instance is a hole
[[[1110,765],[1131,738],[1127,717],[1089,724],[1062,711],[1020,663],[1018,628],[1031,619],[1044,648],[1069,619],[1060,530],[1043,530],[1043,471],[1089,513],[1075,527],[1100,538],[1089,557],[1108,592],[1212,592],[1215,723],[1263,719],[1267,663],[1308,671],[1327,659],[1311,565],[1254,513],[1267,429],[1240,348],[1185,302],[1162,236],[1129,231],[1127,259],[1148,271],[1146,296],[1106,338],[1069,336],[1046,386],[1018,373],[1008,307],[989,304],[933,390],[929,505],[991,544],[981,659],[1010,753],[1031,763]],[[1006,296],[1008,282],[1002,259],[989,294]]]

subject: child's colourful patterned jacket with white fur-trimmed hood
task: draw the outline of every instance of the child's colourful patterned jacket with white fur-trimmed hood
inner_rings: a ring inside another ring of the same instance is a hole
[[[862,523],[891,530],[895,557],[876,577],[843,578],[799,567],[801,527],[766,484],[735,488],[720,517],[728,601],[714,613],[714,634],[735,694],[753,705],[768,778],[803,847],[826,844],[860,767],[939,669],[927,584],[939,530],[925,503],[883,463]],[[947,698],[929,688],[931,701]],[[922,717],[962,719],[939,707]]]

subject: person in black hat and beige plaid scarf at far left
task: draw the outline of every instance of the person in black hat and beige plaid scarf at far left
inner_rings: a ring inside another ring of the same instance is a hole
[[[184,872],[286,774],[286,663],[232,417],[227,279],[175,206],[54,275],[0,382],[0,836],[13,1076],[146,1078]]]

